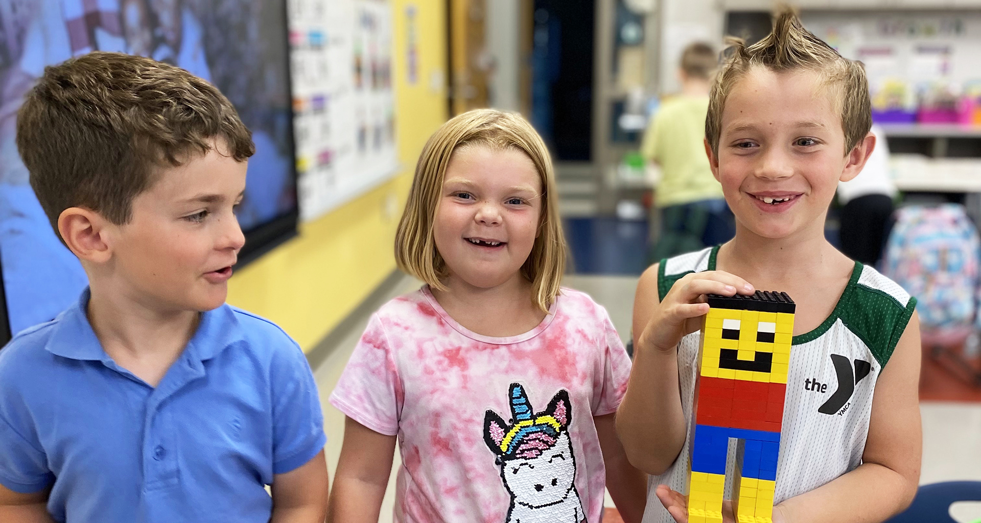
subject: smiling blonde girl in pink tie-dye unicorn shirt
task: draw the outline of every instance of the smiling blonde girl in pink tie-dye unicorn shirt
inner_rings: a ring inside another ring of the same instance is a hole
[[[426,282],[372,317],[331,396],[347,415],[329,521],[375,522],[396,439],[401,523],[640,522],[646,480],[613,414],[630,360],[560,288],[551,162],[520,116],[460,115],[426,144],[395,238]]]

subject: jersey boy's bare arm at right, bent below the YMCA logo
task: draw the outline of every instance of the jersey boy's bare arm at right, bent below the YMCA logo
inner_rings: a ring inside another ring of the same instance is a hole
[[[919,320],[913,314],[875,386],[862,464],[781,503],[789,523],[884,521],[909,505],[919,483],[923,447],[920,354]]]

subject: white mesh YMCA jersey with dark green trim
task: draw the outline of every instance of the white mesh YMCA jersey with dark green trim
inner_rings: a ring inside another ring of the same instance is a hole
[[[686,274],[714,271],[717,253],[718,247],[711,247],[662,260],[657,275],[660,299]],[[861,463],[876,380],[915,305],[916,298],[892,280],[855,262],[831,316],[813,331],[794,337],[774,502],[814,490]],[[699,337],[694,333],[678,344],[682,409],[688,420]],[[671,468],[648,478],[644,523],[674,522],[654,491],[666,484],[687,493],[690,443],[691,434]],[[735,465],[734,450],[735,440],[730,440],[728,477]],[[726,486],[726,498],[732,498],[731,485]]]

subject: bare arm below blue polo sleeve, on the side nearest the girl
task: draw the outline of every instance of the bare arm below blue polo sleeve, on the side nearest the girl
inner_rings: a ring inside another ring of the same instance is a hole
[[[324,523],[330,484],[323,450],[298,468],[277,474],[270,487],[270,523]]]

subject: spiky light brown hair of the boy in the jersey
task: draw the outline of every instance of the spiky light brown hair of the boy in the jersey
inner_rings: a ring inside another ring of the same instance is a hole
[[[739,38],[731,38],[730,57],[715,78],[709,94],[705,138],[716,155],[722,132],[722,111],[733,85],[754,67],[774,73],[811,71],[824,78],[824,84],[835,97],[845,132],[845,154],[857,145],[872,127],[872,106],[868,97],[868,79],[861,63],[848,60],[827,43],[805,29],[800,18],[789,7],[777,13],[773,30],[749,47]]]

